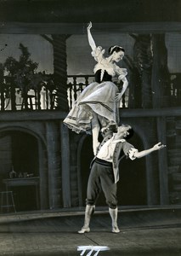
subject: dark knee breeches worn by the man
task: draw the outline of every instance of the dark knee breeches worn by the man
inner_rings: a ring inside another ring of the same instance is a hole
[[[102,190],[108,206],[115,209],[117,207],[116,183],[112,166],[110,163],[104,165],[95,160],[88,177],[87,204],[93,206]]]

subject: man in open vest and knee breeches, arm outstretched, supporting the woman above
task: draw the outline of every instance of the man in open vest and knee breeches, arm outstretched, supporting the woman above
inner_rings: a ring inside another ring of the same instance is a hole
[[[89,223],[91,215],[94,212],[95,202],[101,190],[105,194],[106,203],[109,206],[110,217],[112,220],[112,232],[119,233],[117,226],[117,199],[116,183],[119,180],[119,162],[121,153],[125,154],[131,160],[141,158],[153,151],[166,147],[157,143],[150,149],[140,151],[127,143],[126,139],[133,136],[133,128],[130,125],[118,126],[117,132],[110,137],[105,137],[99,146],[98,153],[93,159],[93,165],[88,177],[87,206],[85,210],[85,219],[79,234],[89,232]]]

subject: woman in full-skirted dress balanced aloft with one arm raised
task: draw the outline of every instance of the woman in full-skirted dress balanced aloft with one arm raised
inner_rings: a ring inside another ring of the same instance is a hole
[[[80,96],[78,96],[74,107],[64,119],[64,124],[72,131],[92,133],[93,154],[97,153],[99,147],[99,131],[105,131],[110,126],[117,127],[119,122],[118,109],[120,100],[127,89],[127,69],[116,65],[122,60],[125,50],[114,45],[109,49],[109,56],[105,57],[105,49],[96,46],[90,32],[92,22],[88,24],[88,43],[92,49],[95,65],[93,72],[95,82],[89,84]],[[122,80],[122,91],[119,92],[112,78],[118,77]]]

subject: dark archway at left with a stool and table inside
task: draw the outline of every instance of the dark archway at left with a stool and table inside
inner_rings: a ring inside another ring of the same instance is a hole
[[[14,192],[16,211],[37,210],[39,188],[33,180],[39,176],[37,138],[25,131],[1,131],[0,153],[1,187],[7,189],[10,182],[9,189]],[[12,169],[16,172],[14,180],[9,177]]]

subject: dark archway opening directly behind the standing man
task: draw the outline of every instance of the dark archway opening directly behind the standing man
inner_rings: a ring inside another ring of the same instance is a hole
[[[129,143],[135,145],[135,148],[143,150],[143,143],[137,134],[129,140]],[[92,137],[85,137],[81,153],[81,172],[80,187],[82,188],[82,205],[85,205],[87,184],[89,176],[89,166],[93,160]],[[145,158],[129,160],[124,158],[120,163],[120,181],[117,183],[118,205],[121,206],[141,206],[146,205],[146,170]],[[97,201],[97,206],[106,206],[105,196],[101,194]]]

